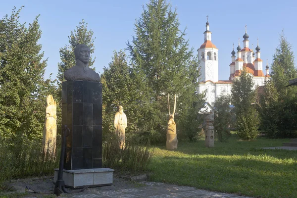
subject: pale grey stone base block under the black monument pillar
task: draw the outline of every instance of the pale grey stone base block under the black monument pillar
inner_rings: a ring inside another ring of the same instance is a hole
[[[113,169],[91,168],[80,170],[63,170],[63,180],[67,188],[82,188],[85,186],[108,186],[112,184]],[[58,178],[59,169],[54,169],[54,183]]]

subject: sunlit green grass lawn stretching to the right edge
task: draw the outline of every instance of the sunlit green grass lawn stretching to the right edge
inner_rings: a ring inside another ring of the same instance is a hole
[[[297,151],[266,150],[289,139],[229,139],[205,148],[204,141],[179,143],[175,151],[157,147],[149,179],[257,198],[297,197]]]

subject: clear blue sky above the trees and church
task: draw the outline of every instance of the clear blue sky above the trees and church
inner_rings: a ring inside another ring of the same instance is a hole
[[[134,33],[134,22],[142,13],[142,5],[148,0],[3,0],[0,4],[0,18],[11,13],[13,6],[21,11],[21,22],[31,23],[40,14],[39,22],[43,32],[39,41],[48,67],[45,77],[56,77],[57,63],[60,61],[59,48],[68,44],[68,37],[79,22],[84,19],[89,29],[94,31],[96,71],[102,73],[108,66],[113,50],[125,49]],[[177,7],[180,29],[187,27],[190,46],[197,49],[204,41],[206,15],[209,15],[212,42],[219,49],[219,79],[227,80],[230,74],[232,44],[235,48],[247,24],[250,47],[256,47],[257,37],[261,48],[263,67],[266,59],[269,65],[275,48],[279,44],[279,34],[284,29],[285,36],[297,53],[297,1],[296,0],[169,0]],[[265,71],[265,70],[264,70]],[[264,72],[265,73],[265,72]]]

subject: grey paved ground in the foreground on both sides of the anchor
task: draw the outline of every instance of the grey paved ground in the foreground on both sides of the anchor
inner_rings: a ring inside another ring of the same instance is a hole
[[[53,177],[27,178],[11,180],[10,185],[24,193],[26,186],[41,193],[29,191],[22,198],[52,198]],[[67,189],[71,191],[71,189]],[[13,193],[13,192],[11,192]],[[16,192],[14,192],[16,193]],[[7,194],[7,198],[10,195]],[[216,193],[199,190],[194,187],[170,185],[160,182],[131,182],[120,177],[113,177],[111,186],[87,188],[81,193],[61,194],[61,198],[248,198],[235,194]]]

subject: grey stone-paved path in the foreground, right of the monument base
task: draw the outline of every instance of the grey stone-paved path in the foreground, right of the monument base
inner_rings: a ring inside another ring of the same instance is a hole
[[[71,195],[71,198],[248,198],[234,194],[215,193],[194,187],[176,186],[157,182],[140,182],[143,187]]]

